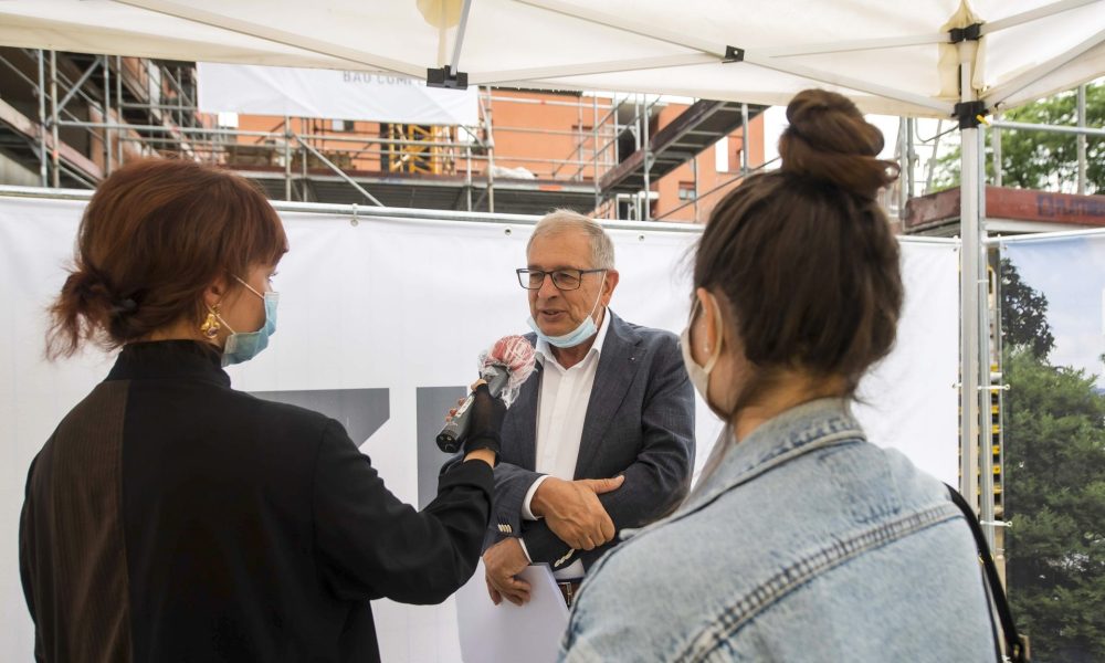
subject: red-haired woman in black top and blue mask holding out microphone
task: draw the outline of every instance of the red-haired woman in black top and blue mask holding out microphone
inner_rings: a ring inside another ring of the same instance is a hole
[[[422,512],[337,421],[231,388],[276,329],[286,251],[264,196],[213,166],[130,164],[92,197],[48,354],[119,352],[28,474],[36,660],[379,661],[370,599],[472,576],[505,411],[486,387]]]

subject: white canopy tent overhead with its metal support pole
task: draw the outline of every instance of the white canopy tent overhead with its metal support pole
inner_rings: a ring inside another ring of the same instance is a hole
[[[976,118],[1105,74],[1105,0],[4,0],[0,44],[774,105],[818,86],[872,113],[959,117],[961,487],[975,494],[991,389]]]

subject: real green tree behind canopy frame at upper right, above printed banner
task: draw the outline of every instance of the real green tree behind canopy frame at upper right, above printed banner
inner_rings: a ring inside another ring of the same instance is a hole
[[[1002,114],[1008,122],[1077,125],[1077,95],[1064,92]],[[1086,86],[1086,126],[1105,126],[1105,83]],[[992,133],[990,136],[992,137]],[[959,148],[937,161],[934,187],[959,186]],[[993,151],[986,149],[987,180],[993,181]],[[1074,192],[1078,179],[1077,140],[1073,134],[1001,130],[1002,186]],[[1086,138],[1086,193],[1105,193],[1105,138]]]

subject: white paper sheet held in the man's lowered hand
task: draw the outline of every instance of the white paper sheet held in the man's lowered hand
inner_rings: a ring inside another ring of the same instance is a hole
[[[467,585],[456,592],[456,625],[464,663],[551,663],[568,625],[568,607],[548,565],[527,567],[529,602],[492,603],[480,561]]]

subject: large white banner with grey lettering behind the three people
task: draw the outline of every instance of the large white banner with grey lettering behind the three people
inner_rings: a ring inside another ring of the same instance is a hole
[[[45,308],[64,280],[83,202],[0,198],[0,651],[30,660],[33,628],[19,579],[17,534],[31,459],[61,418],[102,380],[112,359],[88,352],[42,359]],[[434,466],[419,421],[427,388],[456,388],[475,375],[476,355],[505,334],[526,330],[525,264],[529,225],[344,214],[284,213],[292,251],[280,265],[280,327],[255,360],[231,368],[238,389],[326,394],[379,390],[383,414],[371,425],[343,414],[361,449],[401,498],[417,502],[419,465]],[[687,251],[696,233],[612,230],[621,284],[613,309],[628,320],[678,333],[687,316]],[[906,307],[895,352],[862,386],[859,414],[873,441],[905,452],[954,483],[958,460],[958,285],[955,244],[904,243]],[[386,391],[385,391],[386,390]],[[277,396],[276,398],[281,398]],[[333,400],[333,399],[332,399]],[[318,402],[330,402],[319,398]],[[423,408],[424,410],[425,408]],[[377,409],[379,410],[379,409]],[[324,409],[324,411],[326,411]],[[697,465],[720,424],[701,403]],[[423,427],[424,433],[424,427]],[[786,498],[786,496],[780,496]],[[383,660],[460,660],[452,600],[439,607],[378,601]]]

